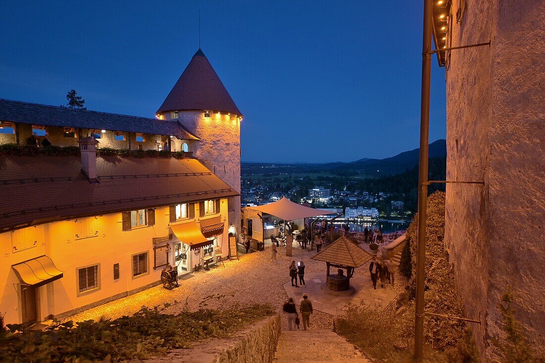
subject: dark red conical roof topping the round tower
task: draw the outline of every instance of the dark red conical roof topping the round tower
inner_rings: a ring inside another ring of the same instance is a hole
[[[208,58],[199,49],[157,112],[214,110],[241,114]]]

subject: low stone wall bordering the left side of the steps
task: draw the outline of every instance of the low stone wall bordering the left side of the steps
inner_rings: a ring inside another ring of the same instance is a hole
[[[210,339],[191,349],[175,349],[147,362],[178,363],[264,363],[274,359],[280,338],[280,316],[262,320],[229,339]]]

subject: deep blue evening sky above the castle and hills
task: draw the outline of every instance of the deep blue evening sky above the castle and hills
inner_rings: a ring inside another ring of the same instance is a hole
[[[385,158],[419,144],[421,1],[8,1],[0,98],[154,117],[202,49],[245,118],[243,161]],[[433,58],[430,141],[445,138]]]

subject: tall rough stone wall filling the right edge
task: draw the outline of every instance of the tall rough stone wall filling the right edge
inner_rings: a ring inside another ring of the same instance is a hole
[[[456,14],[459,0],[453,1]],[[516,316],[539,350],[545,346],[545,2],[467,2],[453,19],[446,73],[445,244],[466,314],[483,355],[501,336],[497,304],[508,288]]]

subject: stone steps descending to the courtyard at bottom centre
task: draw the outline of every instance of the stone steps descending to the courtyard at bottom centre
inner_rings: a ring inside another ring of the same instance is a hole
[[[361,352],[331,330],[282,331],[275,363],[369,363]]]

